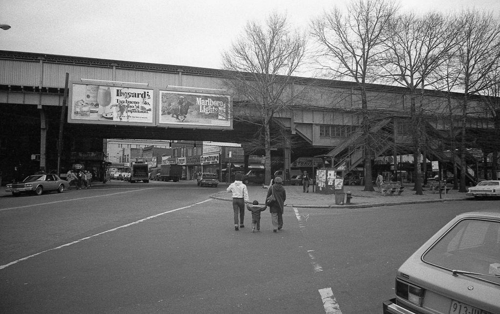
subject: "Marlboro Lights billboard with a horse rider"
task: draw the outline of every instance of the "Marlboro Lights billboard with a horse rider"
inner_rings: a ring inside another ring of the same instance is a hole
[[[231,129],[229,95],[159,90],[158,126]]]

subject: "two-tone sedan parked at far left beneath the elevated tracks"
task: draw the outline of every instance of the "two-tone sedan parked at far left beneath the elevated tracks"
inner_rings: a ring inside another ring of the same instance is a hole
[[[12,192],[15,196],[26,192],[41,195],[44,191],[62,193],[66,188],[69,188],[69,183],[55,174],[35,174],[26,177],[22,182],[7,184],[5,191]]]

